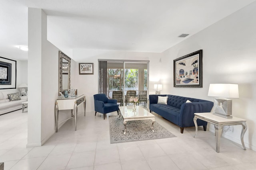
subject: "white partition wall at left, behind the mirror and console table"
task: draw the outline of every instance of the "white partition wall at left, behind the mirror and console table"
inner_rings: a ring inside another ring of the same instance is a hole
[[[58,98],[58,51],[47,40],[47,16],[28,8],[28,147],[41,146],[55,133],[54,106]],[[74,61],[72,60],[74,63]],[[71,67],[74,74],[74,67]],[[59,122],[70,111],[59,111]],[[63,125],[60,124],[59,127]]]

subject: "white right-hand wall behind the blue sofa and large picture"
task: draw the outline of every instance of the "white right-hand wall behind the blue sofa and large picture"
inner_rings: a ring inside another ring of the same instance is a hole
[[[239,86],[239,99],[233,99],[233,116],[247,120],[244,135],[246,147],[256,150],[256,2],[218,21],[162,53],[170,65],[168,92],[174,95],[200,98],[208,97],[210,83],[235,83]],[[173,60],[203,50],[203,88],[174,88]],[[151,62],[151,61],[150,61]],[[163,62],[162,62],[163,63]],[[151,71],[151,70],[150,70]],[[232,126],[223,136],[241,144],[241,126]],[[213,131],[213,127],[211,127]]]

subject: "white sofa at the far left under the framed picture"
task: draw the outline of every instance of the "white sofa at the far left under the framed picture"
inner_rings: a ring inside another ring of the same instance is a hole
[[[28,101],[28,96],[20,96],[20,100],[10,101],[7,94],[16,93],[18,90],[7,90],[0,92],[0,115],[22,109],[22,102]]]

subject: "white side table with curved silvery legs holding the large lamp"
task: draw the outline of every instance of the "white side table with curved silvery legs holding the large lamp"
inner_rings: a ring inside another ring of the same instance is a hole
[[[197,135],[198,126],[196,123],[196,119],[201,119],[203,121],[207,121],[209,123],[212,123],[214,125],[215,129],[215,136],[216,136],[216,152],[220,152],[220,137],[223,130],[223,126],[227,125],[242,125],[242,132],[241,132],[241,142],[244,147],[244,150],[246,150],[246,147],[244,146],[244,133],[247,130],[246,120],[240,119],[238,117],[232,117],[230,119],[220,117],[217,115],[213,115],[212,113],[194,113],[194,123],[196,127],[196,134],[194,138]]]

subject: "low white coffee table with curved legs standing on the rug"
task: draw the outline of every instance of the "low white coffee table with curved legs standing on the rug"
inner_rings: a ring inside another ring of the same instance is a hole
[[[152,120],[151,129],[154,132],[153,126],[155,123],[155,116],[144,109],[142,106],[136,106],[136,111],[132,110],[132,106],[119,106],[120,116],[124,119],[124,135],[126,133],[126,124],[133,120]],[[119,117],[120,117],[119,116]]]

